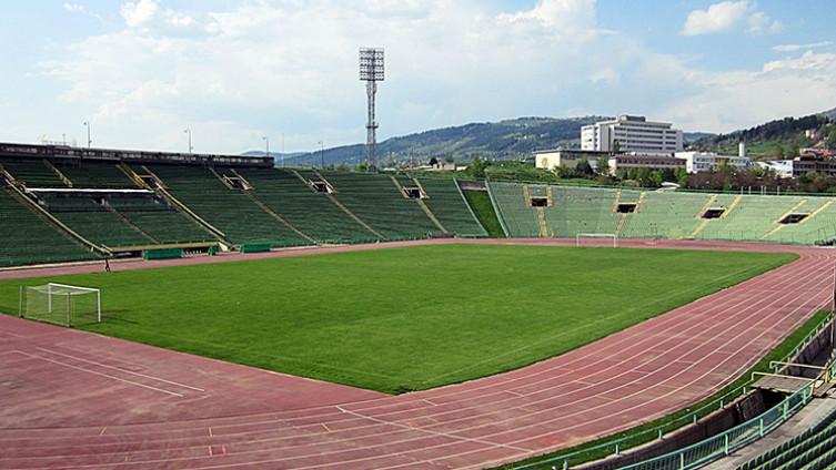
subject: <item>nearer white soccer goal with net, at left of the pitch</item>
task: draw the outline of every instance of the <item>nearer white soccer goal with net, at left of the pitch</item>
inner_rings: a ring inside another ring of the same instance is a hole
[[[101,323],[101,292],[54,283],[20,286],[19,315],[63,326]]]

